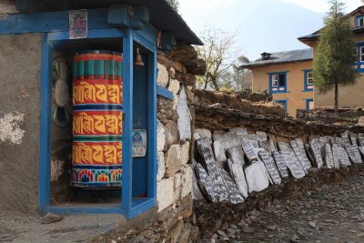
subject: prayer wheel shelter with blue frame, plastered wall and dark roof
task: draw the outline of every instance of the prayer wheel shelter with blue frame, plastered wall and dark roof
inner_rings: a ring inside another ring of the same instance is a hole
[[[202,45],[167,0],[0,0],[0,210],[157,205],[157,53]]]

